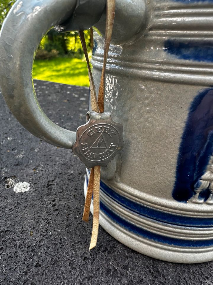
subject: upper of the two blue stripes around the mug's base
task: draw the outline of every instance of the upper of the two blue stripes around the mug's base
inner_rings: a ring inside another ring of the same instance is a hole
[[[88,179],[87,179],[88,183]],[[174,215],[170,213],[165,213],[156,209],[152,209],[141,205],[137,202],[127,199],[126,197],[121,196],[117,192],[109,188],[105,183],[101,181],[100,184],[101,190],[108,195],[112,200],[115,200],[120,205],[125,208],[132,210],[135,213],[147,217],[150,219],[155,219],[163,223],[183,225],[188,227],[212,227],[213,219],[212,218],[190,218],[185,216]]]

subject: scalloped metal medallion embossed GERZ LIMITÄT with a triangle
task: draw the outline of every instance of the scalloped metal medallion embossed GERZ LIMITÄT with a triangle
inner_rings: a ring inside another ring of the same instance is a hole
[[[124,147],[123,127],[112,121],[110,113],[87,113],[88,122],[77,129],[77,139],[72,147],[87,168],[107,166]]]

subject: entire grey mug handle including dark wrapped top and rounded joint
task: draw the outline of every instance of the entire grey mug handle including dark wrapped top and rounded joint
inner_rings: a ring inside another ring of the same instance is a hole
[[[80,30],[99,21],[98,26],[104,30],[105,5],[106,0],[18,0],[1,28],[1,93],[17,120],[29,132],[52,145],[72,148],[76,132],[54,124],[38,103],[32,79],[36,50],[53,26],[58,31]],[[144,1],[117,0],[112,40],[130,40],[138,34],[145,20]]]

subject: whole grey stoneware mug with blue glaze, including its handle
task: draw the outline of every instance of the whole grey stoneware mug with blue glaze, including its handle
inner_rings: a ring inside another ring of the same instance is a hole
[[[18,0],[2,26],[1,92],[18,121],[53,145],[72,148],[76,134],[38,103],[36,49],[52,26],[95,26],[98,90],[105,7],[106,0]],[[101,170],[100,224],[126,246],[171,262],[213,260],[211,9],[210,0],[116,0],[105,110],[123,125],[125,147]]]

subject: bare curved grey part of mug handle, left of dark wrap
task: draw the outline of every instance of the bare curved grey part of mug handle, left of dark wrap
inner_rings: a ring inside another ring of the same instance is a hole
[[[33,135],[62,148],[72,148],[76,132],[54,124],[35,94],[32,67],[42,37],[72,15],[76,0],[18,0],[0,34],[0,87],[17,120]]]

